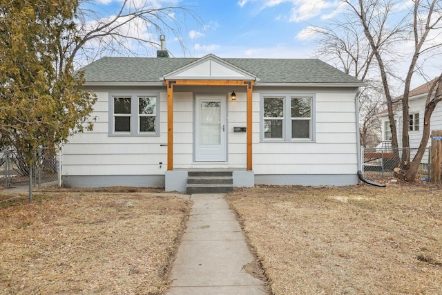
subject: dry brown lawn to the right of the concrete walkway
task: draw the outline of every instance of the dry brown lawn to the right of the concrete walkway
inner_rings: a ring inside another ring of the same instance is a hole
[[[273,294],[442,294],[430,185],[256,187],[227,196]]]

